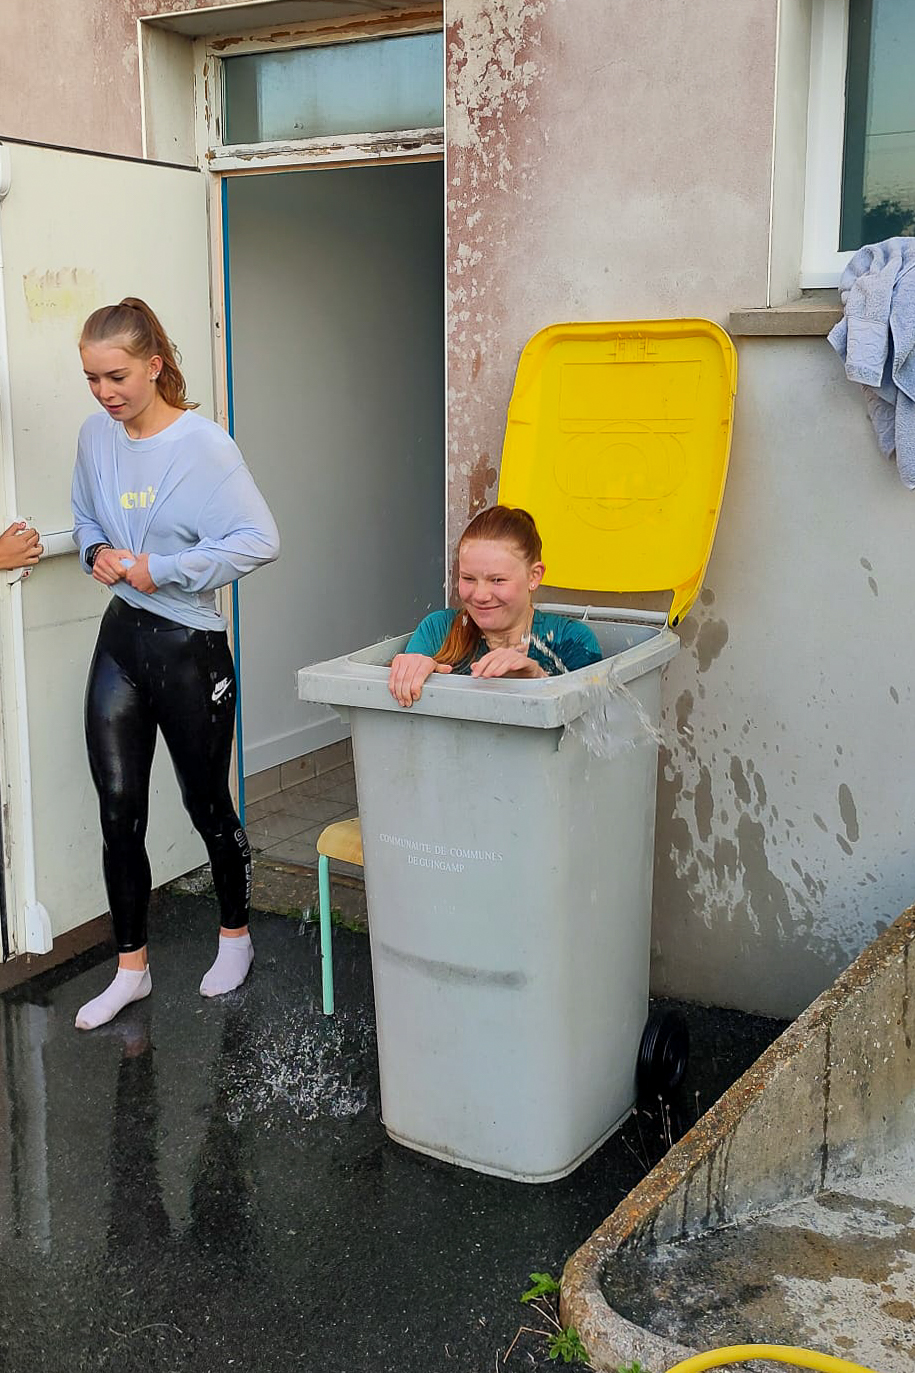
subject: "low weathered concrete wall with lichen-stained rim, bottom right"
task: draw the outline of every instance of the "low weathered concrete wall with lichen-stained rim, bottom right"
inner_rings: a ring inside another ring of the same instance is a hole
[[[686,1240],[860,1173],[915,1130],[915,997],[904,912],[665,1155],[562,1276],[595,1369],[661,1373],[695,1352],[628,1321],[602,1288],[615,1252]]]

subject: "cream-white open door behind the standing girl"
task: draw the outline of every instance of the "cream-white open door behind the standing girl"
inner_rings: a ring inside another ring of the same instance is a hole
[[[107,909],[82,695],[109,593],[69,541],[70,476],[95,406],[80,367],[85,316],[139,295],[177,342],[188,394],[213,413],[205,176],[192,169],[0,144],[0,527],[54,556],[0,573],[0,792],[8,951]],[[148,849],[155,883],[205,861],[162,747]]]

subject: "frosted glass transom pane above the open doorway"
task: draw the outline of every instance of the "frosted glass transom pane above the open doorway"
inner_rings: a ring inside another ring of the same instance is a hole
[[[442,124],[442,36],[254,52],[223,63],[227,143]]]

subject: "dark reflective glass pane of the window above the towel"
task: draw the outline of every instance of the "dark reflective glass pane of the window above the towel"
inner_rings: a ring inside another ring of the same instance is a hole
[[[850,0],[839,250],[915,233],[915,3]]]

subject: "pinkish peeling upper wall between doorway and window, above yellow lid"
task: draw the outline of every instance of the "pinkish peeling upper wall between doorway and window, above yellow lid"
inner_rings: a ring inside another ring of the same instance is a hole
[[[447,0],[452,541],[539,328],[764,303],[775,14]]]

